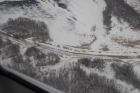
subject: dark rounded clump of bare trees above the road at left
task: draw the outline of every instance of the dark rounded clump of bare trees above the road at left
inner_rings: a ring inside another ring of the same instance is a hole
[[[2,25],[2,30],[13,34],[15,38],[33,37],[40,42],[50,41],[47,25],[42,21],[19,17],[9,20]]]

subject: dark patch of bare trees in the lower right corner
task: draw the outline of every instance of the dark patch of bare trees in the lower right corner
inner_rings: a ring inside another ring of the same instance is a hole
[[[138,88],[140,90],[140,80],[137,78],[137,75],[133,70],[133,66],[130,63],[123,65],[112,63],[111,67],[114,70],[115,77],[117,79],[125,81],[126,83],[133,85],[134,88]]]

